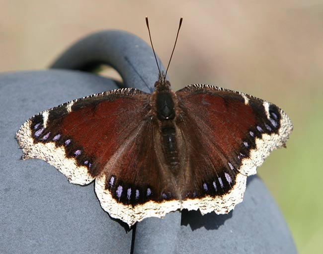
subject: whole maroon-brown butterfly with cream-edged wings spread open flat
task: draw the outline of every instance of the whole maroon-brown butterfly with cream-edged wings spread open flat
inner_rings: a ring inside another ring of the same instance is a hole
[[[102,208],[131,226],[178,209],[230,212],[292,128],[270,102],[212,85],[173,92],[161,72],[152,94],[72,100],[31,117],[16,139],[23,159],[45,160],[71,183],[95,180]]]

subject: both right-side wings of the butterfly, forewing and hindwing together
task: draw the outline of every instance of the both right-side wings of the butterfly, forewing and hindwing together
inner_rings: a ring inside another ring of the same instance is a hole
[[[182,208],[227,213],[242,201],[246,175],[284,146],[292,124],[276,105],[211,85],[176,92],[187,153]]]

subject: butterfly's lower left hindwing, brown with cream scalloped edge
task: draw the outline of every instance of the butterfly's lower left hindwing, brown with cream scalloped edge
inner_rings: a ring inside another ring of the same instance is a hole
[[[161,163],[156,119],[143,122],[95,179],[101,206],[129,226],[180,208],[174,177]]]

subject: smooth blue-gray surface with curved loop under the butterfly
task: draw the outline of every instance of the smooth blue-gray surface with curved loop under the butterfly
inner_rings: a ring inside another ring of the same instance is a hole
[[[104,35],[99,34],[103,40]],[[126,37],[127,43],[137,40],[129,33]],[[83,43],[77,45],[87,55],[86,38]],[[147,84],[152,87],[157,79],[156,69],[151,70],[155,61],[151,49],[138,40],[136,45],[145,50],[136,55],[138,47],[125,51],[120,43],[106,50],[120,55],[114,61],[128,63],[119,67],[121,76],[129,75],[127,85],[149,90]],[[93,49],[90,51],[93,53]],[[60,66],[81,69],[66,64],[77,58],[77,54],[69,54],[57,61],[61,61]],[[136,58],[143,64],[133,64],[136,70],[130,70],[128,60],[136,63]],[[109,59],[100,61],[118,65]],[[133,78],[125,72],[132,72]],[[136,83],[131,84],[132,80]],[[19,160],[22,152],[14,135],[30,116],[112,88],[117,86],[108,79],[76,71],[0,74],[0,253],[130,253],[133,236],[133,253],[296,253],[279,209],[257,177],[249,177],[244,201],[228,215],[169,213],[164,219],[148,218],[137,223],[133,234],[100,208],[93,184],[73,185],[44,161]]]

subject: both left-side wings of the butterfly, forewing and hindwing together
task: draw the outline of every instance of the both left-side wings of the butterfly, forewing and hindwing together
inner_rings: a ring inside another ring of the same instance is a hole
[[[96,178],[102,207],[129,225],[161,217],[168,209],[162,208],[163,201],[178,194],[172,181],[165,180],[156,154],[159,132],[149,116],[150,96],[117,89],[43,111],[16,134],[23,159],[45,160],[72,183]]]

